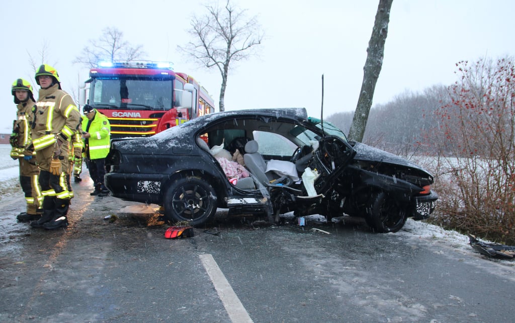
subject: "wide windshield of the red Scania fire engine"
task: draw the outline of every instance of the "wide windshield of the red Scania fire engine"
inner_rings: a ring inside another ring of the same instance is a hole
[[[90,87],[91,105],[103,109],[169,110],[173,81],[141,78],[97,78]]]

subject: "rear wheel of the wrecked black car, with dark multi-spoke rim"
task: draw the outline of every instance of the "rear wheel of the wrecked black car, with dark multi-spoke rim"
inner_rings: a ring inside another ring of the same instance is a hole
[[[187,221],[189,225],[206,222],[216,212],[213,187],[199,178],[180,178],[166,190],[164,216],[169,221]]]

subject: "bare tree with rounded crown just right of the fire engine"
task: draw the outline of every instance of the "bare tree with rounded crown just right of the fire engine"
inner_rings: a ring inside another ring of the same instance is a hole
[[[246,20],[246,10],[237,10],[230,0],[223,9],[218,5],[205,8],[208,13],[201,17],[193,16],[192,28],[187,30],[193,41],[178,48],[202,66],[218,68],[222,77],[219,108],[224,111],[229,64],[255,54],[255,45],[261,44],[263,32],[255,16]]]

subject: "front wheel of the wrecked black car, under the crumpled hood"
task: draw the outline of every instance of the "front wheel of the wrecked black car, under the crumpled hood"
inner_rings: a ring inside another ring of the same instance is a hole
[[[380,192],[374,194],[367,207],[367,224],[374,232],[397,232],[406,223],[409,207]]]

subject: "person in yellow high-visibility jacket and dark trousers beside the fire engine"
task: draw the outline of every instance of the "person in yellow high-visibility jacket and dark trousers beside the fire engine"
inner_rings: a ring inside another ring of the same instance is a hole
[[[90,195],[107,196],[109,191],[104,185],[104,175],[106,175],[106,156],[109,153],[111,126],[107,117],[89,104],[82,107],[82,112],[88,118],[82,121],[86,165],[95,185]]]

